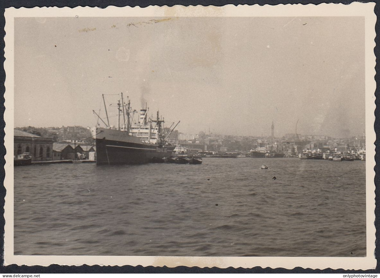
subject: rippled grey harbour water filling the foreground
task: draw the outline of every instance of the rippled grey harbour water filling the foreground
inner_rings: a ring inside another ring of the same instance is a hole
[[[297,158],[15,167],[14,254],[366,256],[365,179]]]

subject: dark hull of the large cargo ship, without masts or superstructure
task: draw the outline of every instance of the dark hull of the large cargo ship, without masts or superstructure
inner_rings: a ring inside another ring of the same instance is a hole
[[[142,142],[124,131],[97,128],[97,165],[144,164],[171,156],[174,146]]]

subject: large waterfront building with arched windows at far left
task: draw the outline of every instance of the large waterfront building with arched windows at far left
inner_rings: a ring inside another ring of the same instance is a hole
[[[30,153],[32,161],[52,160],[53,138],[14,129],[13,155]]]

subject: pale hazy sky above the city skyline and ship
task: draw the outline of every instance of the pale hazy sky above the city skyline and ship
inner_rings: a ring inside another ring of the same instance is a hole
[[[161,19],[15,18],[15,125],[95,126],[123,92],[185,133],[363,133],[364,17]]]

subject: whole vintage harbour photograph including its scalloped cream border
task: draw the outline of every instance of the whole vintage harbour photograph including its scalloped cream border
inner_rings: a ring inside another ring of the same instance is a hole
[[[374,4],[334,5],[8,11],[6,262],[375,267]]]

